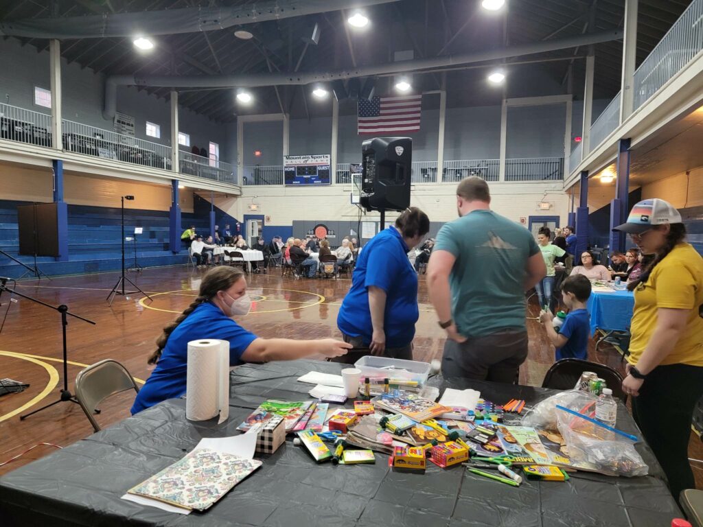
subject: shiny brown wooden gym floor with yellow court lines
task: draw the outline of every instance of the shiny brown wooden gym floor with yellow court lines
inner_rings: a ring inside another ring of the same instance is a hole
[[[277,270],[278,271],[278,270]],[[190,304],[198,292],[205,270],[183,266],[150,268],[135,275],[128,273],[153,301],[141,294],[117,296],[108,306],[108,292],[120,278],[119,273],[53,278],[51,281],[29,280],[18,284],[18,292],[48,304],[66,304],[70,311],[89,318],[96,325],[69,317],[67,327],[69,388],[82,367],[104,358],[124,364],[137,379],[146,379],[150,368],[146,358],[154,349],[161,328]],[[349,289],[349,279],[292,280],[271,275],[250,275],[250,294],[254,295],[252,313],[238,322],[261,337],[318,339],[340,337],[337,312]],[[129,291],[129,289],[127,289]],[[61,364],[60,315],[49,308],[17,297],[8,302],[0,298],[0,323],[10,306],[0,332],[0,378],[27,382],[22,393],[0,397],[0,463],[37,443],[65,446],[89,436],[93,429],[75,403],[59,403],[20,421],[19,415],[56,401],[63,386]],[[420,278],[420,320],[415,334],[415,359],[441,358],[444,331],[427,297],[425,280]],[[538,311],[536,301],[531,307]],[[528,320],[529,356],[520,371],[520,383],[541,385],[548,367],[554,362],[554,350],[536,320]],[[612,347],[589,351],[589,360],[622,371],[624,364]],[[106,401],[96,419],[103,426],[129,416],[133,393]],[[11,471],[53,450],[39,446],[20,459],[0,467],[0,474]],[[690,457],[703,458],[703,443],[691,434]],[[698,488],[703,488],[703,465],[692,463]]]

